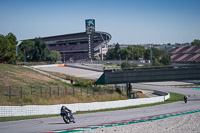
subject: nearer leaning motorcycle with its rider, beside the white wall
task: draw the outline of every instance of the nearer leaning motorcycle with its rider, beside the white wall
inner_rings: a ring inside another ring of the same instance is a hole
[[[63,120],[65,121],[66,124],[69,124],[70,122],[75,123],[72,111],[69,110],[67,107],[65,107],[65,106],[61,107],[60,115],[61,115],[61,117],[63,117]]]

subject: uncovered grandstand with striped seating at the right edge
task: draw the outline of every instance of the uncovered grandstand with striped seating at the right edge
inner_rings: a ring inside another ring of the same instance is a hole
[[[200,64],[200,46],[176,47],[168,54],[173,63]]]

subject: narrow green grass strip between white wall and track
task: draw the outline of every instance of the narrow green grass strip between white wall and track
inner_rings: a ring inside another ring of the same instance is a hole
[[[101,109],[101,110],[94,110],[94,111],[78,111],[74,114],[96,113],[96,112],[105,112],[105,111],[115,111],[115,110],[125,110],[125,109],[132,109],[132,108],[149,107],[149,106],[167,104],[167,103],[172,103],[172,102],[178,102],[178,101],[182,101],[182,100],[183,100],[182,94],[170,93],[170,98],[168,100],[164,101],[164,102],[152,103],[152,104],[143,104],[143,105],[138,105],[138,106],[128,106],[128,107],[123,107],[123,108]],[[47,118],[47,117],[54,117],[54,116],[59,116],[59,114],[57,114],[57,115],[0,117],[0,122],[26,120],[26,119],[37,119],[37,118]]]

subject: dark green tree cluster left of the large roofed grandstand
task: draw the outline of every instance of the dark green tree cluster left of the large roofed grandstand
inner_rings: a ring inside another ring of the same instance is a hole
[[[59,52],[50,50],[41,38],[22,41],[18,48],[17,38],[13,33],[0,34],[0,63],[15,63],[16,61],[51,61],[61,59]]]

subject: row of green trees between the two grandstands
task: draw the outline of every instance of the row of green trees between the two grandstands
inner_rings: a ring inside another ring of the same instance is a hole
[[[108,50],[106,59],[108,60],[139,60],[140,58],[144,60],[151,60],[151,50],[152,50],[152,63],[155,66],[170,65],[171,59],[168,56],[166,50],[158,50],[152,47],[152,49],[145,49],[143,46],[128,46],[127,48],[120,48],[117,43],[115,48]]]

